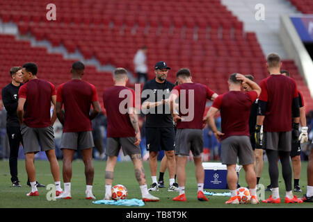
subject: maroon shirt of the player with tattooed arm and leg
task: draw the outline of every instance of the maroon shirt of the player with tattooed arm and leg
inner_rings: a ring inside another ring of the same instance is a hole
[[[120,92],[122,90],[127,92],[120,98]],[[123,105],[122,101],[127,103]],[[132,101],[131,101],[132,100]],[[133,89],[129,89],[125,86],[113,86],[105,89],[103,92],[103,103],[106,109],[106,117],[108,119],[108,129],[106,131],[107,137],[135,137],[134,127],[131,125],[129,114],[122,114],[120,112],[120,104],[122,110],[127,110],[127,104],[131,107],[135,107],[135,92]]]

